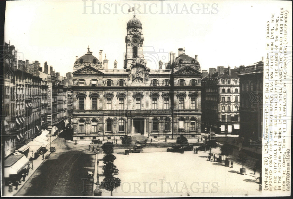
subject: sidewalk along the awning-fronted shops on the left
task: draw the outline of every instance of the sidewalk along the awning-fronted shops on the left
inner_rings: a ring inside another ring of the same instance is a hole
[[[51,138],[51,142],[53,142],[57,137],[52,136]],[[49,138],[50,139],[50,138]],[[50,140],[49,140],[50,141]],[[50,143],[47,145],[47,147],[50,147]],[[44,153],[44,156],[46,157],[47,154],[51,154],[50,149]],[[25,177],[25,181],[21,181],[21,185],[18,185],[18,189],[15,190],[15,186],[13,186],[12,188],[12,192],[9,192],[8,186],[4,187],[4,196],[14,196],[21,188],[22,186],[26,183],[26,181],[28,181],[28,179],[30,178],[31,175],[33,175],[33,173],[38,169],[38,167],[42,164],[42,162],[44,162],[44,160],[42,160],[42,155],[40,155],[37,159],[33,160],[33,168],[32,168],[32,164],[30,164],[30,171],[28,172],[28,175]]]

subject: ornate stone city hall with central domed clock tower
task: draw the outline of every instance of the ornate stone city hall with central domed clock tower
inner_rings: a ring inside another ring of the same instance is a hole
[[[87,53],[73,69],[74,140],[113,139],[125,134],[153,138],[197,137],[201,131],[201,77],[197,55],[178,49],[169,62],[148,68],[143,55],[142,23],[127,23],[124,67],[108,69],[108,60]]]

